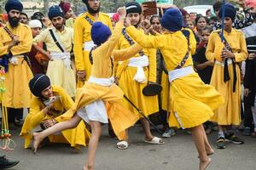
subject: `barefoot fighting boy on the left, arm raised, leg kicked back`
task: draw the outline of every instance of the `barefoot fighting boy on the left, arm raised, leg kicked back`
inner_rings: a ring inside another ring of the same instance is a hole
[[[137,115],[126,110],[122,105],[124,94],[113,83],[112,59],[116,61],[128,59],[141,49],[136,44],[125,50],[113,51],[123,28],[126,15],[125,8],[119,8],[118,13],[121,15],[121,20],[115,26],[112,36],[108,26],[103,25],[102,22],[96,22],[91,27],[91,37],[96,44],[96,48],[92,49],[90,55],[91,75],[89,81],[85,82],[84,88],[79,90],[75,104],[69,110],[73,117],[67,122],[60,122],[54,127],[49,127],[42,133],[34,133],[35,151],[38,149],[40,141],[49,134],[75,127],[81,119],[84,119],[90,123],[91,127],[88,160],[84,165],[84,170],[94,169],[96,148],[102,133],[102,123],[108,123],[109,119],[117,137],[125,139],[125,129],[131,127],[139,119]]]

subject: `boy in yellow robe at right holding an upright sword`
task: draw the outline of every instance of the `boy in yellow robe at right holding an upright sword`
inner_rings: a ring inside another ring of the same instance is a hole
[[[225,8],[225,15],[222,10]],[[213,31],[207,45],[206,56],[214,62],[211,85],[225,98],[212,116],[212,122],[218,122],[218,149],[225,148],[225,141],[243,144],[243,140],[232,132],[224,132],[224,126],[240,125],[241,122],[241,74],[239,63],[247,59],[247,45],[241,31],[232,28],[236,18],[236,9],[231,4],[220,8],[219,17],[224,17],[224,42],[221,31]]]

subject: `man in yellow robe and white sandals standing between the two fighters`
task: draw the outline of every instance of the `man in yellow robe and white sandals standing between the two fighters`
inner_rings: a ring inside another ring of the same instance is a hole
[[[125,8],[127,18],[132,20],[132,25],[143,32],[143,30],[139,29],[142,14],[140,4],[136,2],[126,3]],[[133,43],[129,34],[123,29],[117,48],[130,48]],[[137,54],[131,59],[118,62],[116,77],[119,82],[119,87],[123,90],[125,96],[130,99],[138,109],[143,111],[145,116],[159,111],[158,96],[143,95],[143,88],[145,88],[148,83],[156,82],[156,49],[143,48],[143,50],[137,51]],[[127,109],[132,111],[133,114],[138,114],[137,110],[126,99],[124,99],[124,105]],[[141,117],[141,122],[145,133],[144,142],[164,144],[162,139],[153,136],[150,131],[149,122],[147,122],[145,118]],[[120,141],[117,147],[120,150],[124,150],[127,149],[128,145],[128,139],[126,139],[125,141]]]

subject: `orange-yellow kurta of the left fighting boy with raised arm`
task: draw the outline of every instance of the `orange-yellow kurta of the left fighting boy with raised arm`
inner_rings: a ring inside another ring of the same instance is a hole
[[[113,31],[113,35],[108,42],[92,52],[93,65],[91,67],[91,76],[96,78],[110,78],[113,75],[111,64],[111,55],[114,60],[128,59],[136,54],[140,46],[135,45],[133,48],[125,50],[113,50],[116,46],[120,32],[123,27],[123,21],[119,21]],[[135,52],[134,52],[135,51]],[[131,127],[138,120],[136,114],[131,113],[122,105],[123,92],[115,84],[111,86],[101,86],[93,82],[85,82],[83,88],[79,88],[75,104],[70,110],[72,114],[79,111],[85,105],[101,99],[107,106],[108,119],[110,120],[113,131],[119,139],[125,139],[125,129]]]

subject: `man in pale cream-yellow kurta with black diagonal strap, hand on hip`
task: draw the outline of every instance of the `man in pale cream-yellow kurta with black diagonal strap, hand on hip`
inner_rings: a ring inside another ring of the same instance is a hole
[[[49,20],[53,28],[47,28],[33,39],[33,47],[49,57],[46,75],[53,85],[60,86],[71,97],[76,94],[76,78],[71,66],[71,51],[73,49],[73,29],[64,25],[64,14],[59,6],[49,8]],[[47,50],[38,46],[45,42]]]

